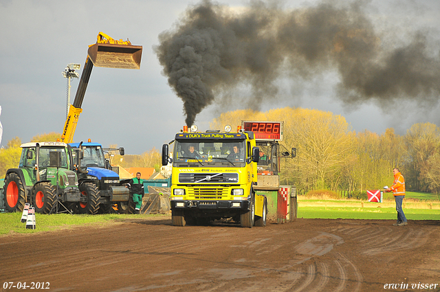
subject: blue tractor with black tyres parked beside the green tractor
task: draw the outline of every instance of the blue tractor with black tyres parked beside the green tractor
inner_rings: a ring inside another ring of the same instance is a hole
[[[81,166],[77,168],[80,201],[74,212],[107,214],[112,212],[113,205],[118,206],[120,213],[129,212],[129,189],[121,186],[118,173],[111,170],[109,159],[104,157],[104,152],[109,150],[119,150],[120,155],[124,155],[124,148],[102,148],[101,144],[94,142],[69,143],[69,146],[72,147],[74,164]],[[81,161],[80,155],[76,155],[80,149],[84,153]]]

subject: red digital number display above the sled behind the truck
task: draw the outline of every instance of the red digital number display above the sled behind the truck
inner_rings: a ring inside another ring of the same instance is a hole
[[[257,140],[283,141],[284,122],[241,121],[244,131],[254,132]]]

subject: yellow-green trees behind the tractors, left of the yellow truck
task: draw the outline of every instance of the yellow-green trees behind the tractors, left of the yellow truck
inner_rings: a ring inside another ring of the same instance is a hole
[[[52,132],[49,134],[36,135],[32,137],[30,142],[56,141],[56,139],[59,139],[59,137],[61,137],[60,133]],[[15,137],[14,139],[8,141],[8,144],[5,148],[0,149],[0,179],[5,177],[6,171],[9,168],[17,168],[19,166],[21,144],[21,139],[19,137]],[[109,147],[118,148],[116,145],[109,145]],[[159,172],[162,166],[160,153],[155,148],[142,153],[142,155],[131,155],[131,159],[121,159],[122,157],[118,155],[118,151],[111,151],[109,154],[111,154],[111,156],[108,157],[111,164],[120,165],[124,168],[155,168],[156,172]]]

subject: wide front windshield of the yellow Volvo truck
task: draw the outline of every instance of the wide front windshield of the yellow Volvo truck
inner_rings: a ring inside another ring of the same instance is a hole
[[[176,141],[173,155],[175,166],[242,167],[246,161],[244,140],[181,140]]]

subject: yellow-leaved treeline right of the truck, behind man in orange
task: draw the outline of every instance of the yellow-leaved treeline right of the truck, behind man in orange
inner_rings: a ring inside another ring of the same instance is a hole
[[[434,124],[414,124],[406,135],[393,128],[378,135],[355,133],[341,115],[313,109],[238,110],[222,113],[210,124],[222,129],[241,120],[283,121],[283,146],[296,147],[297,157],[281,159],[281,183],[309,190],[379,189],[393,183],[397,167],[407,190],[440,189],[440,129]]]

